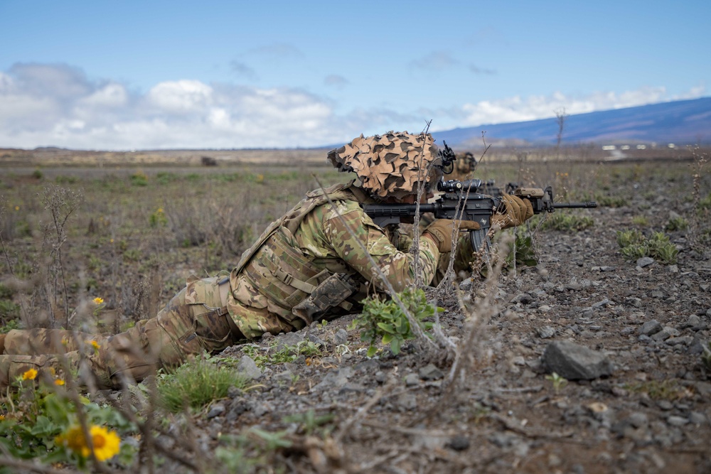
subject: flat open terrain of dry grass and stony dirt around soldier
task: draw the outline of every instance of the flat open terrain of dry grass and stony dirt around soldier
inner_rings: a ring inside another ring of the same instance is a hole
[[[99,317],[80,311],[69,324],[120,330],[153,316],[190,274],[229,270],[307,190],[349,178],[319,164],[323,150],[274,163],[261,151],[258,160],[231,164],[215,152],[219,165],[203,167],[187,166],[203,153],[183,156],[184,166],[175,153],[169,165],[127,158],[119,167],[3,158],[0,280],[13,291],[1,323],[66,325],[74,308],[100,296]],[[215,400],[187,423],[166,415],[157,442],[192,464],[156,454],[161,470],[710,472],[711,368],[702,354],[711,340],[711,173],[693,160],[524,158],[485,160],[474,177],[552,185],[557,200],[592,199],[599,208],[548,217],[592,219],[579,230],[528,226],[538,264],[505,269],[489,303],[479,276],[464,281],[461,304],[454,291],[429,291],[446,309],[444,334],[463,357],[474,356],[462,362],[461,377],[449,382],[451,361],[415,342],[399,355],[383,347],[366,357],[367,344],[349,325],[355,316],[237,345],[222,357],[242,367],[257,362],[256,386]],[[290,159],[299,165],[284,166]],[[52,210],[68,215],[61,232]],[[625,259],[616,233],[632,229],[664,232],[678,255]],[[289,362],[274,357],[304,340],[318,350]],[[541,358],[564,340],[605,357],[611,375],[552,380]],[[111,402],[117,394],[97,397]],[[232,457],[216,463],[218,448]],[[135,463],[113,467],[149,472],[145,459]]]

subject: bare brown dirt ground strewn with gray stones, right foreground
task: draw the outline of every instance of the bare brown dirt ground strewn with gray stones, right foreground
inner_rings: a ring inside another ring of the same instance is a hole
[[[616,230],[632,217],[663,221],[688,208],[643,195],[586,211],[596,222],[587,230],[538,234],[539,264],[501,276],[479,347],[460,343],[479,355],[464,380],[448,384],[450,365],[430,366],[414,343],[365,357],[353,317],[341,318],[258,342],[266,352],[311,340],[323,354],[257,370],[260,387],[219,402],[198,438],[208,448],[218,433],[285,430],[300,441],[271,462],[287,472],[711,472],[711,381],[701,363],[711,252],[671,232],[677,264],[622,259]],[[456,298],[439,305],[444,332],[461,340],[468,316]],[[613,372],[556,387],[541,357],[561,340],[606,357]],[[309,436],[304,423],[285,421],[309,412],[333,419]]]

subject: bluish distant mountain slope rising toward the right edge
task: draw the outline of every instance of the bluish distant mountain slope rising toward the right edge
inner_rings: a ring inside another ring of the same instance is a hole
[[[550,119],[469,126],[434,131],[438,144],[447,141],[459,148],[488,143],[555,144],[558,123]],[[711,142],[711,97],[570,115],[565,119],[563,144],[708,144]]]

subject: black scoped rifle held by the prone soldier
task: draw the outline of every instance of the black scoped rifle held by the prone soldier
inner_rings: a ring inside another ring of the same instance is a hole
[[[486,189],[488,193],[484,194]],[[486,243],[491,227],[491,216],[501,207],[501,190],[493,188],[493,183],[482,184],[480,179],[466,181],[442,179],[437,190],[444,194],[434,203],[420,204],[419,212],[432,212],[435,219],[473,220],[479,222],[479,230],[470,230],[471,246],[475,252]],[[493,194],[493,195],[492,195]],[[513,195],[530,200],[533,213],[553,212],[558,208],[597,208],[597,203],[554,203],[553,189],[516,188]],[[417,212],[417,204],[363,204],[363,210],[373,219],[375,225],[385,227],[399,224],[403,217],[412,217]]]

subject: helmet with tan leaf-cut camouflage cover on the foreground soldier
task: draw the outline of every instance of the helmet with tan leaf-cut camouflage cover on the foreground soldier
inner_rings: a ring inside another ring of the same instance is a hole
[[[328,160],[338,171],[353,171],[361,185],[375,198],[404,198],[417,193],[417,183],[439,181],[437,146],[430,134],[412,135],[389,131],[353,139],[328,152]]]

